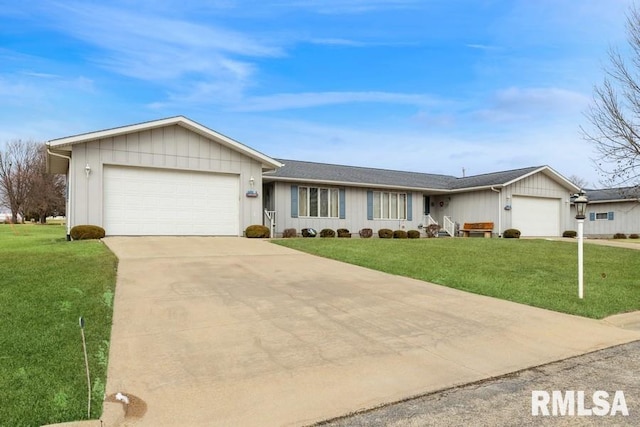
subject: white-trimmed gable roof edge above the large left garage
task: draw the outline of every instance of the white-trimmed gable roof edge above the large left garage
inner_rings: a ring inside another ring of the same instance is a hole
[[[105,129],[96,132],[84,133],[80,135],[68,136],[65,138],[52,139],[47,142],[47,145],[51,149],[55,149],[57,151],[71,151],[71,147],[75,144],[81,144],[86,142],[95,141],[103,138],[112,138],[119,135],[125,135],[145,130],[151,130],[166,126],[178,125],[182,126],[185,129],[188,129],[192,132],[195,132],[199,135],[204,136],[205,138],[209,138],[214,140],[215,142],[231,148],[232,150],[238,151],[248,157],[251,157],[254,160],[257,160],[262,163],[263,167],[268,169],[275,169],[282,164],[271,157],[262,154],[259,151],[256,151],[234,139],[231,139],[221,133],[218,133],[214,130],[211,130],[199,123],[194,122],[184,116],[175,116],[169,117],[166,119],[153,120],[144,123],[138,123],[134,125],[122,126],[113,129]]]

